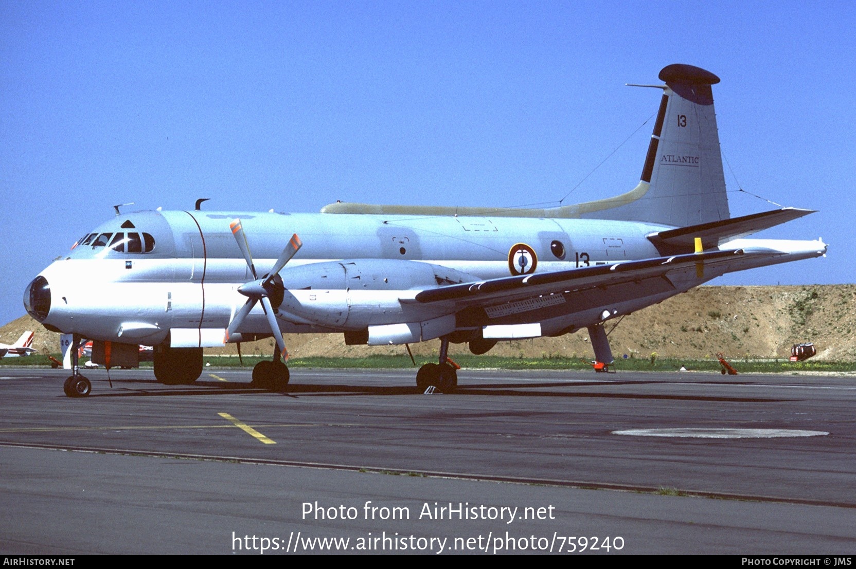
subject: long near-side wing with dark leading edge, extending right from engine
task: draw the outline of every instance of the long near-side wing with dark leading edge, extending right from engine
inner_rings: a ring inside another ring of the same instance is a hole
[[[705,272],[709,276],[719,276],[731,270],[744,269],[747,263],[770,264],[776,262],[773,260],[776,257],[787,256],[788,252],[766,247],[688,253],[550,273],[465,282],[420,291],[415,294],[413,300],[421,303],[450,302],[459,308],[467,305],[496,304],[497,301],[526,299],[591,287],[609,290],[609,287],[666,277],[669,273],[692,270],[693,267],[697,276],[702,276]]]

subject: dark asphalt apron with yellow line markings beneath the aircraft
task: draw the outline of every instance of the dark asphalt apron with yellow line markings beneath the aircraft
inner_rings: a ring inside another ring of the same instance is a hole
[[[856,549],[853,376],[84,373],[0,369],[0,554]]]

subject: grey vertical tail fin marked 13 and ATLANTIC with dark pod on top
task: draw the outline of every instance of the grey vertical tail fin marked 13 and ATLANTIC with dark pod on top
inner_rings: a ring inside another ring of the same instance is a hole
[[[728,219],[710,89],[719,78],[682,63],[663,68],[659,76],[666,85],[639,187],[631,193],[635,199],[597,216],[677,227]]]

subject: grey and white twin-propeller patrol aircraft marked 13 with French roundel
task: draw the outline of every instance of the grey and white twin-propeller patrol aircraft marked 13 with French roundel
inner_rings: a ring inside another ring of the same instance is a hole
[[[45,328],[92,340],[96,363],[137,365],[194,382],[202,350],[272,336],[253,384],[288,383],[282,334],[328,332],[348,345],[438,340],[420,390],[455,390],[449,342],[486,353],[497,341],[587,329],[597,361],[603,324],[716,276],[822,256],[821,240],[746,235],[812,213],[732,217],[711,86],[686,64],[659,74],[663,96],[639,184],[611,199],[538,210],[330,204],[321,213],[194,210],[117,215],[85,234],[24,293]],[[118,208],[117,208],[118,213]],[[76,355],[68,396],[89,394]]]

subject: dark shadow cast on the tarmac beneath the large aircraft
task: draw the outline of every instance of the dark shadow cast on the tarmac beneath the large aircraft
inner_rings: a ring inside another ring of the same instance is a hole
[[[255,388],[248,382],[229,381],[197,381],[193,385],[164,386],[150,379],[114,379],[113,388],[108,387],[106,379],[98,379],[93,382],[97,390],[87,399],[102,397],[169,397],[178,395],[234,395],[234,394],[270,394],[288,397],[322,396],[342,397],[354,395],[415,395],[419,391],[415,386],[377,386],[377,385],[354,385],[354,384],[312,384],[312,383],[289,383],[282,391],[269,391]],[[634,400],[697,400],[697,401],[733,401],[733,402],[781,402],[788,399],[768,397],[727,397],[714,395],[678,395],[678,394],[639,394],[639,393],[611,393],[611,392],[580,392],[567,390],[568,388],[591,388],[595,386],[609,386],[615,388],[620,386],[643,386],[656,384],[669,384],[661,381],[627,381],[627,382],[520,382],[520,383],[490,383],[479,382],[473,384],[459,385],[453,397],[467,395],[492,395],[511,397],[587,397],[606,399],[634,399]],[[556,391],[562,388],[562,391]],[[62,395],[60,395],[62,396]]]

